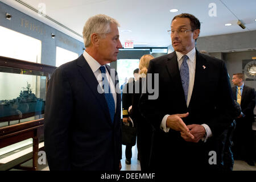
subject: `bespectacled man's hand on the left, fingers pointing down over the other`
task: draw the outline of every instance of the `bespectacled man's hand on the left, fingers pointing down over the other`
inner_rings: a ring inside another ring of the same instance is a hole
[[[166,126],[176,131],[182,131],[185,136],[187,136],[188,138],[194,139],[195,137],[191,133],[189,133],[188,127],[185,125],[185,123],[181,119],[187,116],[188,116],[188,113],[169,115],[168,118],[166,119]]]

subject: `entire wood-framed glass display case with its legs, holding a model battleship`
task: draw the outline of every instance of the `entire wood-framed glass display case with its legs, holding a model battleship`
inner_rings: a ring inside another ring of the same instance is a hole
[[[0,169],[10,168],[1,160],[17,149],[14,144],[31,141],[32,169],[36,170],[46,90],[55,69],[0,56]]]

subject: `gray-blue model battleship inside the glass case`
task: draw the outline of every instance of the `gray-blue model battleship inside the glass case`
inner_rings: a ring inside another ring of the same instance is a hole
[[[0,101],[0,122],[14,121],[44,113],[45,101],[37,98],[27,83],[27,90],[21,90],[19,97]]]

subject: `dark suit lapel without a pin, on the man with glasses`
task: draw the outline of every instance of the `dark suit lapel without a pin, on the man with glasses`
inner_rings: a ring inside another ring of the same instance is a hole
[[[185,101],[185,94],[181,84],[180,71],[175,51],[170,53],[170,55],[168,56],[168,59],[166,61],[166,68],[171,77],[172,86],[174,87],[175,90],[177,90],[175,93],[179,94],[175,97],[180,97],[182,107],[187,108],[187,102]]]

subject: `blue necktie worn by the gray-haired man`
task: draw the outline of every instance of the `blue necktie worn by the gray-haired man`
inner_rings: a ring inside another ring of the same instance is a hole
[[[109,114],[111,117],[111,121],[114,121],[114,115],[115,115],[115,101],[113,98],[113,95],[110,91],[110,85],[108,82],[108,78],[106,77],[106,68],[104,66],[100,67],[101,73],[102,73],[102,82],[103,82],[103,89],[104,89],[104,95],[106,98],[106,102],[108,103],[109,106]],[[104,78],[106,79],[104,81]],[[105,89],[106,88],[106,89]]]

